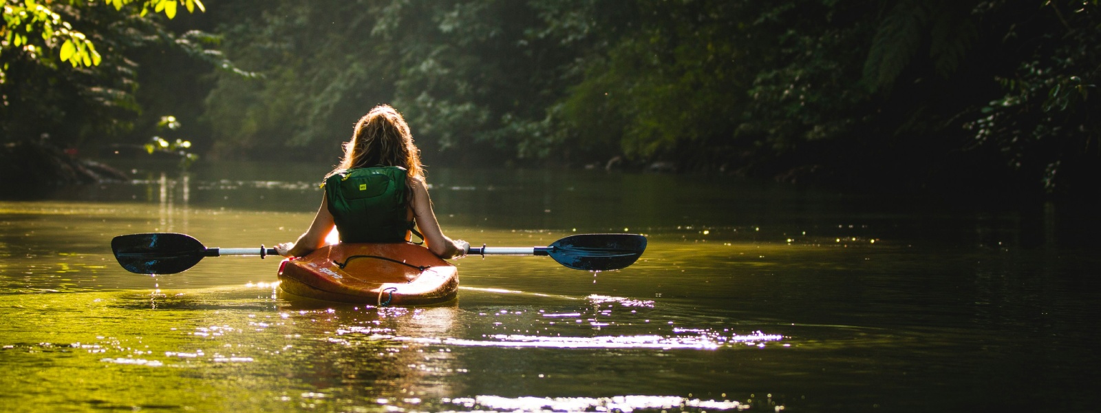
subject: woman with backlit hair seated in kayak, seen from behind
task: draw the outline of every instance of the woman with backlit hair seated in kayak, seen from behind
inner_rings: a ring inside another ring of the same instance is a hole
[[[303,257],[325,246],[336,227],[340,242],[407,242],[411,233],[440,258],[459,258],[470,244],[444,235],[432,210],[421,150],[394,108],[382,105],[356,122],[340,165],[325,176],[314,221],[298,240],[275,246],[283,257]]]

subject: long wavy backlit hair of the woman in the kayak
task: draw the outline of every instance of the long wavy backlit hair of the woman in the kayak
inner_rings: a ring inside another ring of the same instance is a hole
[[[351,140],[344,144],[344,157],[329,177],[340,171],[375,165],[404,167],[410,177],[424,181],[421,150],[402,115],[389,105],[380,105],[359,118]]]

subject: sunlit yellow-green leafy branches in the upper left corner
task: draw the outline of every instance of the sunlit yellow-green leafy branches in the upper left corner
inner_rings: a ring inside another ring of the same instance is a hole
[[[48,137],[58,146],[78,148],[126,137],[142,112],[140,64],[133,58],[143,50],[171,48],[207,65],[226,63],[207,50],[216,37],[166,29],[177,4],[204,8],[197,0],[6,0],[0,141]]]

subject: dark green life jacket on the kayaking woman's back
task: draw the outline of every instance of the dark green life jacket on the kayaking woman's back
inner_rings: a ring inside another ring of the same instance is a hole
[[[401,166],[357,167],[326,178],[340,242],[404,242],[414,226],[406,218],[405,180]]]

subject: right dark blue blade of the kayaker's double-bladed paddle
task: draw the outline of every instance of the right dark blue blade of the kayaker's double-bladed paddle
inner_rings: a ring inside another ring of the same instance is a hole
[[[609,271],[633,264],[646,250],[646,237],[635,233],[582,233],[546,247],[546,254],[575,270]]]

